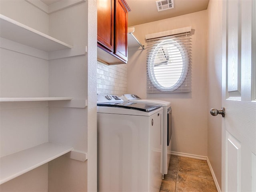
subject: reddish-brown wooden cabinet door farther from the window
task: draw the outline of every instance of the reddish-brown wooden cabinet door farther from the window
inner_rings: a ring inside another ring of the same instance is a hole
[[[114,52],[114,0],[98,0],[98,45]]]

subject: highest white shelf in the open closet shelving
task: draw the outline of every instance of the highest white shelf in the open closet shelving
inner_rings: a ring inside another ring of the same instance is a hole
[[[0,36],[45,52],[73,48],[58,39],[0,14]]]

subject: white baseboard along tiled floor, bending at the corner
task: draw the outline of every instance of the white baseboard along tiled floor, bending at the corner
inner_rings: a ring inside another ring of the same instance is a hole
[[[211,171],[211,173],[212,173],[212,178],[213,178],[213,180],[214,180],[214,183],[215,183],[215,186],[216,186],[216,188],[217,188],[217,191],[218,191],[218,192],[221,192],[221,189],[220,189],[220,186],[219,186],[219,184],[218,184],[217,178],[216,178],[216,176],[215,176],[215,174],[214,174],[214,171],[213,171],[212,166],[211,166],[211,164],[210,164],[210,160],[208,159],[207,156],[194,155],[194,154],[188,154],[188,153],[182,153],[182,152],[176,152],[176,151],[168,151],[167,153],[168,153],[168,154],[172,154],[172,155],[177,155],[177,156],[182,156],[182,157],[188,157],[188,158],[193,158],[193,159],[199,159],[199,160],[205,160],[205,161],[207,161],[208,166],[209,166],[209,168],[210,168],[210,171]]]

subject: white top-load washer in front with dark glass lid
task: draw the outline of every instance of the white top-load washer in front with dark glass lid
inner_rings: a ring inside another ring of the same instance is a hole
[[[97,95],[98,191],[159,192],[163,108]]]

